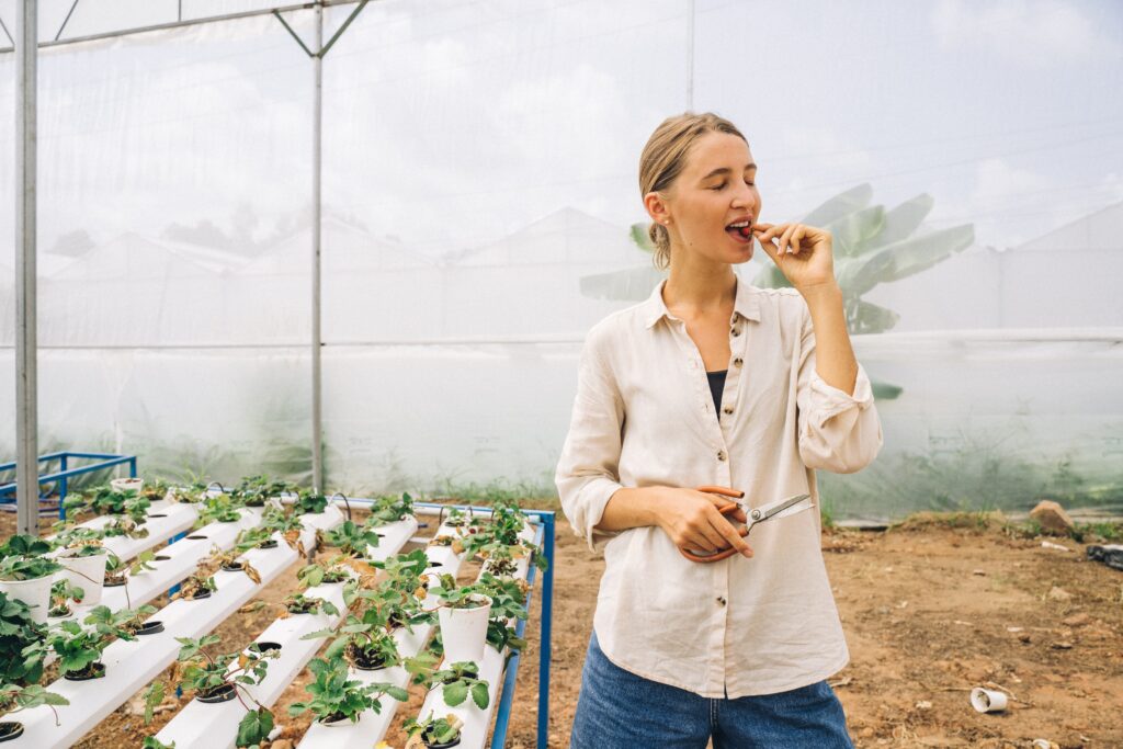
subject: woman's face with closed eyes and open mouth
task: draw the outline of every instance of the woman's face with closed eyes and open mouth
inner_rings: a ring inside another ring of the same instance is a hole
[[[715,263],[745,263],[752,257],[754,239],[751,234],[742,236],[738,226],[751,228],[760,216],[756,173],[745,140],[706,133],[687,153],[670,189],[661,198],[648,193],[645,202],[670,232],[674,252],[696,253]]]

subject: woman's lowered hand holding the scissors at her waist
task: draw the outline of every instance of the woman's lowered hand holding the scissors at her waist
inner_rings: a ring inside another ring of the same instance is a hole
[[[718,511],[731,500],[693,488],[666,486],[660,490],[655,497],[652,510],[659,528],[679,549],[713,552],[733,547],[746,557],[752,556],[752,549],[725,519],[727,515]],[[746,522],[741,509],[729,513],[728,517],[737,522]]]

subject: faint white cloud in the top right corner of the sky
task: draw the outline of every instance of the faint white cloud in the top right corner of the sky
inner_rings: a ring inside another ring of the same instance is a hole
[[[1030,67],[1086,63],[1120,52],[1117,40],[1061,0],[942,0],[931,20],[944,49],[988,49]]]

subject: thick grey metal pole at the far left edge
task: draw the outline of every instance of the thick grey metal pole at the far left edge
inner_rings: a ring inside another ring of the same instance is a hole
[[[35,314],[37,0],[16,2],[16,529],[39,532]]]

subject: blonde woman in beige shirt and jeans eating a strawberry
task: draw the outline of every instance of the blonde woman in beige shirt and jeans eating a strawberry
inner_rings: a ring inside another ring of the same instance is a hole
[[[882,429],[831,236],[760,222],[756,171],[745,136],[711,113],[667,119],[640,158],[670,272],[590,331],[557,469],[574,531],[605,558],[575,749],[851,746],[825,682],[849,654],[814,469],[861,469]],[[738,282],[754,238],[792,289]],[[747,508],[803,493],[814,506],[746,539],[741,510],[694,488],[710,485],[743,491]]]

